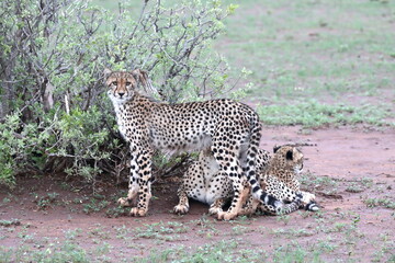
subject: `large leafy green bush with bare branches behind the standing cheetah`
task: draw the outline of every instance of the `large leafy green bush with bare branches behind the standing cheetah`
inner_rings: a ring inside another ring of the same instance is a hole
[[[218,1],[165,8],[144,1],[135,20],[72,0],[4,0],[0,24],[0,184],[18,172],[65,170],[94,182],[126,157],[103,69],[149,71],[163,100],[215,96],[230,81],[211,48],[234,12]]]

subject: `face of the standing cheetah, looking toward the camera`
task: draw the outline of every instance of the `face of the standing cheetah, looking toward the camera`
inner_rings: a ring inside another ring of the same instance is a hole
[[[105,84],[110,99],[120,104],[133,99],[137,88],[135,76],[128,71],[108,72]]]

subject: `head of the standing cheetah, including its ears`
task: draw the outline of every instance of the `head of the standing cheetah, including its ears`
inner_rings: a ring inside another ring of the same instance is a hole
[[[150,82],[146,71],[135,69],[133,71],[111,71],[104,70],[108,94],[115,103],[125,103],[134,98],[138,84],[149,88]]]

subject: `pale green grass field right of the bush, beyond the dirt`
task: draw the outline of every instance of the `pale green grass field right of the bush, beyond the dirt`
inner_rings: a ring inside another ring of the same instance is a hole
[[[219,38],[218,50],[235,69],[253,72],[249,81],[255,84],[246,100],[273,103],[260,110],[264,123],[381,126],[383,117],[395,114],[395,38],[390,19],[395,2],[246,0],[239,4],[226,21],[227,34]],[[328,99],[339,104],[324,103]],[[363,105],[365,101],[375,106]]]

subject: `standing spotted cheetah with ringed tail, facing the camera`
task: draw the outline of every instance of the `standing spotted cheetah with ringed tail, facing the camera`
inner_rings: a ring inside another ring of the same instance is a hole
[[[137,91],[139,83],[149,88],[145,71],[106,70],[104,73],[120,132],[132,153],[129,191],[119,203],[131,206],[138,195],[137,207],[131,210],[133,216],[145,216],[148,211],[155,149],[182,151],[210,147],[234,191],[230,207],[226,213],[218,213],[219,219],[232,219],[240,213],[241,195],[248,195],[244,192],[249,191],[244,187],[246,179],[252,185],[255,198],[281,209],[282,202],[267,195],[256,179],[255,157],[261,126],[253,110],[232,100],[160,103]]]

